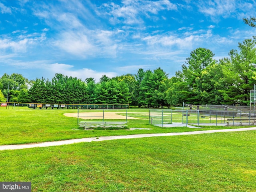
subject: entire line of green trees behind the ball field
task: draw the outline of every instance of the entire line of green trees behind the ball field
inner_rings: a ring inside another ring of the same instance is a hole
[[[256,27],[256,19],[244,22]],[[0,78],[0,102],[128,104],[145,107],[188,104],[250,104],[250,91],[256,84],[256,37],[238,43],[229,58],[214,60],[214,53],[197,48],[186,58],[175,76],[161,68],[138,69],[136,74],[84,81],[55,74],[52,80],[28,80],[22,74],[4,74]]]

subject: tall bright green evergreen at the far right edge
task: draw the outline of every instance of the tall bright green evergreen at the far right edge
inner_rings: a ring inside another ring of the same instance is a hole
[[[250,90],[254,88],[256,81],[253,79],[256,72],[256,41],[246,39],[238,43],[238,50],[231,50],[230,68],[226,69],[230,86],[224,93],[224,99],[230,104],[250,104]]]

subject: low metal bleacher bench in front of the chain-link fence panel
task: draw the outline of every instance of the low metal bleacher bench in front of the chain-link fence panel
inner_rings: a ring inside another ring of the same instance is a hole
[[[81,121],[79,123],[79,127],[82,127],[86,130],[86,128],[94,128],[94,127],[103,127],[106,129],[107,127],[120,127],[124,128],[127,126],[128,121]]]

